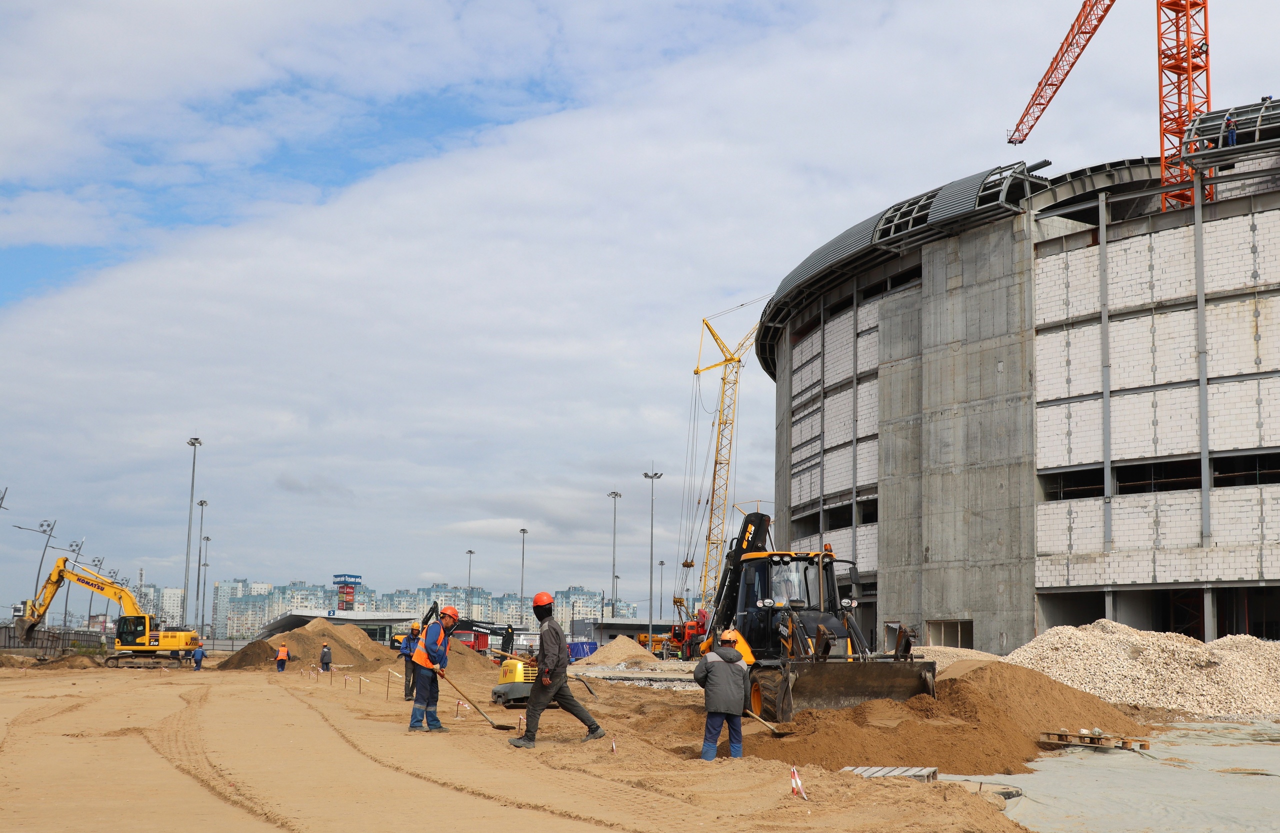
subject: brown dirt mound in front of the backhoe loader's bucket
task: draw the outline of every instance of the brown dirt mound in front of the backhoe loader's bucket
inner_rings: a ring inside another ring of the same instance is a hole
[[[749,755],[788,764],[937,766],[956,775],[1030,772],[1046,729],[1100,727],[1108,734],[1144,729],[1098,697],[1044,674],[995,660],[959,660],[940,674],[937,700],[872,700],[854,709],[801,711],[796,734],[749,734]]]

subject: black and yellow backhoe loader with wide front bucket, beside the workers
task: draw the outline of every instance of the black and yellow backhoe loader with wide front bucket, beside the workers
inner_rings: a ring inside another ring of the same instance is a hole
[[[765,546],[769,516],[753,512],[730,543],[716,589],[707,654],[730,628],[751,668],[751,710],[788,722],[804,709],[847,709],[865,700],[909,700],[933,694],[937,664],[911,659],[900,640],[873,654],[854,622],[854,599],[836,589],[836,557],[776,553]],[[829,545],[828,545],[829,546]],[[856,583],[856,566],[847,563]]]

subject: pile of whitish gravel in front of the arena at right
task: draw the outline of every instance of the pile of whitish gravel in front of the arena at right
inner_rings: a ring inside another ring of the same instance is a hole
[[[1005,662],[1108,702],[1211,717],[1280,713],[1280,642],[1253,636],[1206,645],[1098,619],[1050,628]]]

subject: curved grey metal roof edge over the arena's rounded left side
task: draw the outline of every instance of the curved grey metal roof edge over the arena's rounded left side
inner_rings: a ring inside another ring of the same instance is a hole
[[[845,230],[792,269],[764,306],[755,337],[760,366],[774,375],[777,339],[787,319],[826,290],[829,278],[844,279],[931,241],[1020,214],[1021,200],[1047,186],[1047,179],[1029,175],[1024,163],[989,168],[904,200]]]

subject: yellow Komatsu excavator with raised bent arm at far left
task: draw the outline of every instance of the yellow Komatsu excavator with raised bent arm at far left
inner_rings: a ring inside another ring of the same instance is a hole
[[[67,558],[59,558],[54,563],[54,569],[36,599],[22,603],[22,615],[14,619],[20,641],[31,642],[36,627],[45,619],[54,596],[67,581],[120,605],[122,615],[115,621],[115,653],[106,658],[109,668],[177,668],[182,665],[183,654],[200,645],[200,635],[195,631],[164,630],[155,617],[142,612],[128,587],[83,564],[68,564]]]

